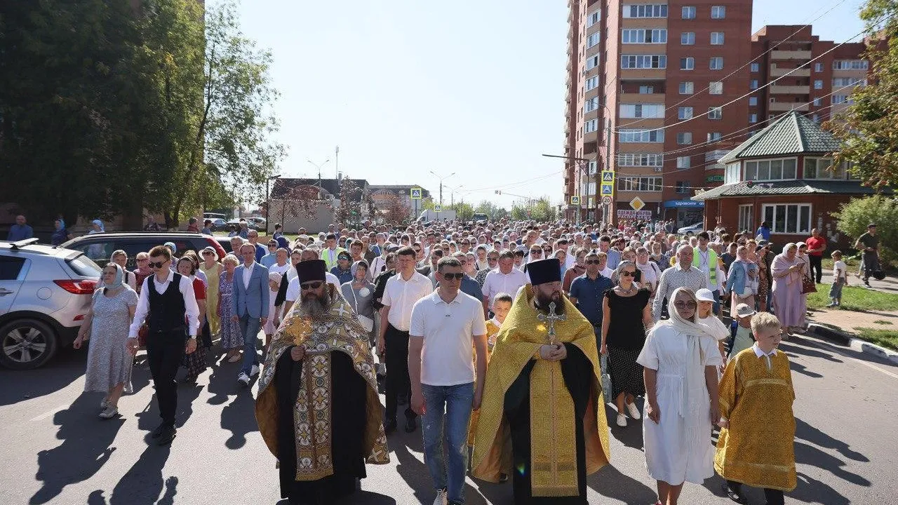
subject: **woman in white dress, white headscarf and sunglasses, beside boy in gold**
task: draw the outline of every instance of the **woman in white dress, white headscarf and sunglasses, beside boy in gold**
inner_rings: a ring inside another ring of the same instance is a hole
[[[711,423],[719,419],[717,341],[696,323],[698,301],[677,288],[668,302],[670,319],[657,323],[637,362],[645,367],[643,439],[648,474],[657,481],[656,505],[676,505],[685,481],[702,483],[714,474]]]

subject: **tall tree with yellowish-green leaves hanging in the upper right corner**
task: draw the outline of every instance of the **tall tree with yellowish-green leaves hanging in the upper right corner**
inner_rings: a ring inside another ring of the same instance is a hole
[[[871,84],[854,88],[846,111],[827,123],[844,146],[834,158],[853,164],[873,187],[898,185],[898,0],[867,0],[860,12],[868,33],[880,40],[867,49]],[[887,42],[882,41],[883,39]]]

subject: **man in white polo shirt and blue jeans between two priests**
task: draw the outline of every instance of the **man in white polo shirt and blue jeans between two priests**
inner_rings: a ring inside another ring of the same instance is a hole
[[[487,375],[483,306],[460,291],[464,275],[460,261],[443,258],[437,263],[439,288],[418,300],[411,310],[411,408],[422,416],[424,461],[436,488],[434,505],[464,503],[468,426],[471,410],[480,408]],[[476,350],[476,376],[472,348]],[[387,367],[389,377],[392,372]]]

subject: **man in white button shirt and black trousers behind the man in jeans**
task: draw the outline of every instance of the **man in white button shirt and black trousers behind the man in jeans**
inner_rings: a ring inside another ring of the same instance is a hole
[[[387,366],[386,410],[383,430],[396,430],[396,407],[400,394],[409,395],[409,327],[411,307],[434,292],[430,279],[415,271],[415,250],[408,245],[396,252],[396,275],[387,280],[381,298],[381,330],[377,350]],[[410,403],[410,402],[409,402]],[[405,410],[405,430],[415,430],[418,417],[411,407]]]

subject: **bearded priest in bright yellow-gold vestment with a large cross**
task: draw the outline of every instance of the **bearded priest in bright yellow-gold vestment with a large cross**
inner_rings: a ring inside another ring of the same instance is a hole
[[[586,503],[610,459],[592,324],[561,292],[557,259],[527,264],[489,360],[471,474],[513,480],[515,503]]]

